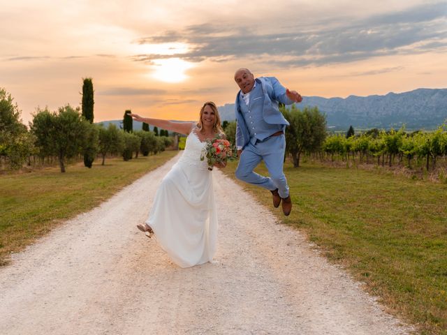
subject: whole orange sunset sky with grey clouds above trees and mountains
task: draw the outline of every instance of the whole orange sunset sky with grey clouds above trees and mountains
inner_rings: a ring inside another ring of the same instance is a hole
[[[22,110],[79,106],[192,120],[233,103],[233,75],[274,75],[303,96],[447,87],[447,1],[0,0],[0,87]]]

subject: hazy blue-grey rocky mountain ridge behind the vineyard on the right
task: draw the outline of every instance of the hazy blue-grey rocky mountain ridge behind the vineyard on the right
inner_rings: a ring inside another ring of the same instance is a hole
[[[298,107],[318,107],[331,128],[437,128],[447,120],[447,89],[416,89],[385,96],[305,96]],[[219,107],[221,119],[235,119],[234,104]]]

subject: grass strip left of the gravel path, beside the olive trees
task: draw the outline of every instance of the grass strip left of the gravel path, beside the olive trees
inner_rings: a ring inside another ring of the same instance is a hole
[[[159,167],[177,151],[124,162],[110,158],[91,169],[83,163],[29,173],[0,175],[0,265],[54,225],[88,211],[143,174]]]

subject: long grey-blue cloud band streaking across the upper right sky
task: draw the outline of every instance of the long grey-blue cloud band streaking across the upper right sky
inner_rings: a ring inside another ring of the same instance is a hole
[[[200,24],[183,31],[165,31],[138,43],[186,43],[189,52],[138,54],[134,61],[179,58],[201,62],[256,58],[280,67],[322,66],[392,54],[441,51],[447,47],[447,3],[413,6],[364,20],[321,24],[321,29],[296,25],[288,32],[258,34],[244,26]],[[272,24],[274,26],[275,24]],[[279,27],[279,25],[277,25]],[[290,32],[291,31],[291,32]]]

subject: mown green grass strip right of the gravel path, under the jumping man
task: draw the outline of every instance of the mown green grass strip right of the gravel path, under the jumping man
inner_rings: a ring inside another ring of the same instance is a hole
[[[236,165],[224,172],[234,177]],[[244,188],[420,334],[447,334],[447,185],[310,163],[284,171],[293,200],[287,218],[270,192]]]

